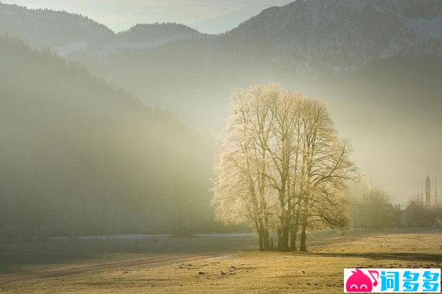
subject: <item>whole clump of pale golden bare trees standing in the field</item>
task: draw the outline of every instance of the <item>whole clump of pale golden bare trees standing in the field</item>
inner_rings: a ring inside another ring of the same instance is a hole
[[[218,219],[249,223],[260,250],[306,251],[307,231],[345,228],[343,190],[357,181],[352,148],[339,139],[327,106],[276,85],[233,94],[215,167],[213,205]]]

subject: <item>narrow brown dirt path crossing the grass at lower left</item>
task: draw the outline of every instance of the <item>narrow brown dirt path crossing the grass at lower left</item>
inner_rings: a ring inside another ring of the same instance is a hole
[[[124,268],[128,266],[139,266],[144,264],[158,264],[162,262],[171,262],[182,259],[189,259],[193,257],[215,257],[219,254],[213,255],[160,255],[156,257],[128,260],[126,262],[109,262],[106,264],[91,264],[88,266],[77,266],[71,268],[57,268],[55,270],[43,271],[41,273],[17,273],[11,275],[0,275],[0,284],[7,282],[17,282],[23,280],[32,280],[41,277],[62,277],[65,275],[77,275],[80,273],[86,273],[89,271],[102,271],[112,268]]]

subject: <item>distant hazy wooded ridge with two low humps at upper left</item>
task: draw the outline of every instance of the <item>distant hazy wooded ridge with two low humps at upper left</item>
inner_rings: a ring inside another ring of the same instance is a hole
[[[19,37],[33,48],[50,48],[58,55],[81,52],[107,55],[121,48],[155,48],[203,34],[178,23],[139,24],[115,34],[81,14],[48,9],[31,10],[0,3],[0,35]]]

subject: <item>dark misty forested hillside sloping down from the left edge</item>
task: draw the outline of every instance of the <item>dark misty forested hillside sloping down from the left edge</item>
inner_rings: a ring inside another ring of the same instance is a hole
[[[0,92],[1,237],[216,229],[211,140],[169,112],[9,37]]]

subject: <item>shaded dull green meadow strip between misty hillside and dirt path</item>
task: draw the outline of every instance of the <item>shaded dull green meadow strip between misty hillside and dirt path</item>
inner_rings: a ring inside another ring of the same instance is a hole
[[[46,268],[123,262],[149,255],[209,254],[255,248],[253,235],[190,237],[98,237],[48,239],[44,242],[1,241],[0,276],[32,273]],[[1,291],[0,291],[1,292]]]

